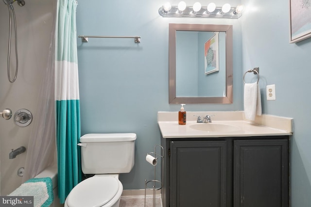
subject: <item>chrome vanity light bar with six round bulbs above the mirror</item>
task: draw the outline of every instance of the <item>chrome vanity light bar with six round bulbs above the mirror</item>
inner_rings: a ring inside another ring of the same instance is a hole
[[[167,2],[159,8],[159,15],[163,17],[207,17],[207,18],[232,18],[237,19],[242,16],[243,5],[231,7],[225,3],[223,6],[216,6],[209,3],[202,6],[200,2],[195,2],[193,6],[187,6],[185,1],[180,1],[177,6]]]

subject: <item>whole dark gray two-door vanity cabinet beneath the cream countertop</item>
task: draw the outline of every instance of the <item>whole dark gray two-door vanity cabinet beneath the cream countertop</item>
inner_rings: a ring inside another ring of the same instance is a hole
[[[163,207],[288,207],[288,139],[162,138]]]

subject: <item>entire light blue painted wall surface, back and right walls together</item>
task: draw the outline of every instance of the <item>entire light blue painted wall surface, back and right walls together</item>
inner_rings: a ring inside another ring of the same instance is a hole
[[[163,2],[79,2],[79,35],[141,36],[139,44],[129,39],[90,39],[82,44],[78,39],[82,134],[137,133],[135,167],[121,175],[121,181],[124,189],[143,189],[144,179],[153,178],[145,155],[160,143],[156,112],[180,108],[168,104],[168,24],[232,24],[233,104],[188,104],[185,109],[243,110],[242,76],[244,71],[259,67],[263,112],[294,118],[290,144],[292,207],[309,207],[311,38],[289,44],[288,0],[242,0],[246,11],[238,20],[163,18],[157,12]],[[248,74],[246,81],[253,77]],[[265,98],[269,84],[276,84],[275,101]]]

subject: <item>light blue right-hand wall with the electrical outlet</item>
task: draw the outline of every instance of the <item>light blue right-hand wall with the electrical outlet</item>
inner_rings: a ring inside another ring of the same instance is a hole
[[[247,6],[242,16],[243,70],[260,68],[264,113],[294,118],[290,144],[291,203],[292,207],[310,207],[311,38],[289,44],[288,0],[242,3]],[[266,100],[266,85],[270,84],[276,84],[275,101]]]

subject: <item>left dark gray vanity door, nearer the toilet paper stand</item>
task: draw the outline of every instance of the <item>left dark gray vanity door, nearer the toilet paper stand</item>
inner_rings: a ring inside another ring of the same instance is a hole
[[[171,207],[226,206],[226,148],[226,141],[171,142]]]

